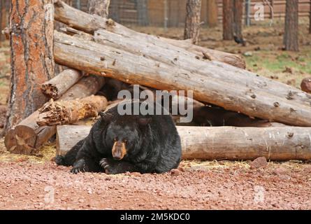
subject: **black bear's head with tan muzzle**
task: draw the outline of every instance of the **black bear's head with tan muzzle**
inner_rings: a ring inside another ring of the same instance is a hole
[[[103,133],[103,145],[111,148],[115,160],[136,155],[142,148],[143,137],[152,118],[146,116],[113,116],[111,113],[100,113],[107,124]]]

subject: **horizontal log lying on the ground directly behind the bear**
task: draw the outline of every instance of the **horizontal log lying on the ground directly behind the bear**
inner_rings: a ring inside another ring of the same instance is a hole
[[[184,160],[310,160],[308,127],[177,127]],[[91,126],[57,126],[57,155],[87,137]]]

